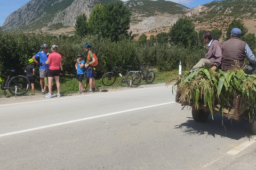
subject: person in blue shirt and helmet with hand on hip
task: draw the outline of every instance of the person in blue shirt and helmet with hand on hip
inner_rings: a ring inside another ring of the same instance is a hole
[[[44,95],[44,78],[47,77],[47,71],[49,70],[49,64],[46,64],[50,53],[48,53],[49,48],[46,44],[41,45],[41,52],[38,52],[36,55],[32,57],[36,64],[39,65],[39,78],[40,78],[40,86],[41,86],[41,94]],[[39,62],[37,59],[39,58]],[[48,81],[48,80],[47,80]]]

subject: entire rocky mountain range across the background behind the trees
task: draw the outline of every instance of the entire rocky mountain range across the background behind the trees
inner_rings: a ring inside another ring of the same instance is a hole
[[[31,0],[10,14],[3,30],[46,31],[72,28],[76,16],[85,13],[87,18],[98,3],[114,0]],[[252,20],[256,15],[255,0],[212,1],[194,8],[171,2],[131,0],[124,2],[132,11],[130,30],[133,33],[167,31],[181,17],[194,20],[197,29],[225,30],[234,18]],[[253,24],[252,24],[253,27]]]

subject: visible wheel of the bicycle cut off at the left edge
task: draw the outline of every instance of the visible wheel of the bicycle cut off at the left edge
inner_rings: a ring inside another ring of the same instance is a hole
[[[27,89],[28,84],[28,89]],[[23,75],[17,75],[8,82],[8,90],[12,95],[22,96],[25,95],[30,89],[30,82],[28,78]]]

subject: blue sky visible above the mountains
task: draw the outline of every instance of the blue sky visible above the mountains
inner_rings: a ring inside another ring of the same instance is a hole
[[[37,0],[40,1],[40,0]],[[123,0],[125,1],[125,0]],[[189,8],[212,2],[213,0],[172,0],[172,2],[179,3]],[[219,1],[219,0],[218,0]],[[1,0],[0,3],[0,26],[3,25],[5,19],[12,12],[18,10],[25,5],[29,0]]]

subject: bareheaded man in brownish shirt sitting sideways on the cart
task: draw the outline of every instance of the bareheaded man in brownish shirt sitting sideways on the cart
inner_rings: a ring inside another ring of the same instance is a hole
[[[199,67],[207,67],[212,70],[216,70],[221,64],[222,54],[221,54],[221,44],[219,41],[213,39],[213,34],[210,31],[204,33],[204,42],[208,44],[208,49],[205,54],[205,58],[199,60],[199,62],[193,66],[190,73],[199,69]]]

